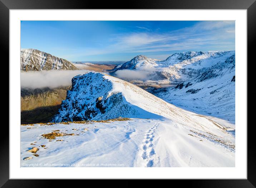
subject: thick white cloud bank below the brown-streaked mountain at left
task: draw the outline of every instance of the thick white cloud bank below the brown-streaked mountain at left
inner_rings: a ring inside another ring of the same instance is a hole
[[[92,72],[90,70],[42,70],[20,73],[21,88],[58,88],[70,86],[74,76]]]

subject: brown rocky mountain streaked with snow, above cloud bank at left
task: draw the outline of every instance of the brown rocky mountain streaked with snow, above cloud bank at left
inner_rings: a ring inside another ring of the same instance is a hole
[[[51,54],[36,49],[20,50],[20,70],[77,70],[77,68],[68,60],[58,58]]]

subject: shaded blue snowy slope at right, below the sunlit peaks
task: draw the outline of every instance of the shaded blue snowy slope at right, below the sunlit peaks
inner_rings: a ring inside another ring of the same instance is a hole
[[[206,62],[202,61],[202,63]],[[234,123],[235,54],[204,68],[195,79],[185,81],[175,88],[153,89],[150,92],[183,109]]]

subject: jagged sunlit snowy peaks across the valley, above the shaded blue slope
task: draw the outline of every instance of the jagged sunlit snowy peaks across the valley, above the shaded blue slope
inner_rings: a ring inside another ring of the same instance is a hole
[[[205,71],[205,68],[224,62],[233,54],[235,54],[235,51],[208,51],[205,53],[202,51],[187,51],[175,53],[161,61],[139,55],[131,61],[115,67],[112,74],[115,75],[115,71],[122,69],[147,68],[147,81],[150,80],[157,84],[178,84],[196,78]],[[151,69],[148,69],[148,67]]]

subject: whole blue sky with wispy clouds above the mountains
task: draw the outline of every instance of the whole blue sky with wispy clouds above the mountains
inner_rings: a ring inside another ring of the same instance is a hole
[[[69,61],[166,59],[181,51],[235,50],[235,21],[21,21],[21,48]]]

